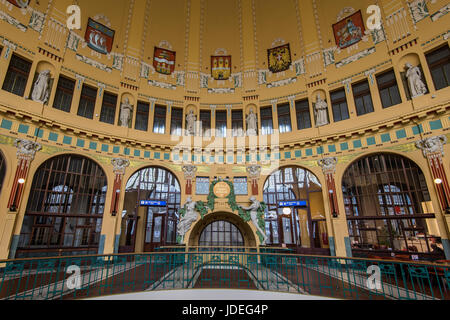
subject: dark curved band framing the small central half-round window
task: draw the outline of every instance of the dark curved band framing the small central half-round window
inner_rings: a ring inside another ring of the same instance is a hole
[[[195,223],[195,225],[192,227],[189,233],[188,246],[189,247],[198,246],[200,243],[200,236],[202,234],[202,231],[205,230],[205,228],[208,225],[217,221],[227,221],[233,224],[242,234],[244,246],[256,247],[255,234],[250,228],[249,224],[244,220],[242,220],[242,218],[240,218],[238,215],[230,212],[210,213],[204,216],[203,219],[197,221],[197,223]]]

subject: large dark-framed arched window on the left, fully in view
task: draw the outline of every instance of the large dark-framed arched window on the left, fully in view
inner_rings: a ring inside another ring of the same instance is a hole
[[[97,254],[107,190],[94,161],[62,155],[33,178],[16,257]]]

